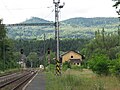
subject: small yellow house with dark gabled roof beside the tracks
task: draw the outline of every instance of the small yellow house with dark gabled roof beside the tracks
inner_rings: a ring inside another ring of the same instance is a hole
[[[73,65],[81,65],[83,61],[83,55],[76,51],[68,51],[61,55],[61,62],[70,62]]]

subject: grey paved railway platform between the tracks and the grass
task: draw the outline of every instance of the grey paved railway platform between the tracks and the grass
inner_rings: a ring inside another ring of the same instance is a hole
[[[45,75],[39,71],[23,88],[23,90],[45,90]]]

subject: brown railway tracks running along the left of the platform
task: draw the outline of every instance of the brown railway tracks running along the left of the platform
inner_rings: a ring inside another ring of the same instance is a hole
[[[0,90],[22,90],[25,83],[27,83],[36,73],[37,71],[26,71],[0,77]]]

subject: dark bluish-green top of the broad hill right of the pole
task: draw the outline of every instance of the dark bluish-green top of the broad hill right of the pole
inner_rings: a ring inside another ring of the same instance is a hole
[[[62,21],[69,25],[77,25],[81,27],[97,27],[97,26],[105,26],[116,24],[119,22],[118,18],[105,18],[105,17],[95,17],[95,18],[70,18],[67,20]]]

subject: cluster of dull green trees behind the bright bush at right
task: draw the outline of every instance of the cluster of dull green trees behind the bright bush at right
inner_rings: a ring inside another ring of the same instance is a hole
[[[89,59],[92,54],[106,54],[109,59],[116,59],[116,54],[120,51],[119,44],[119,34],[118,33],[107,33],[102,29],[102,31],[95,32],[95,38],[86,45],[86,57]]]

